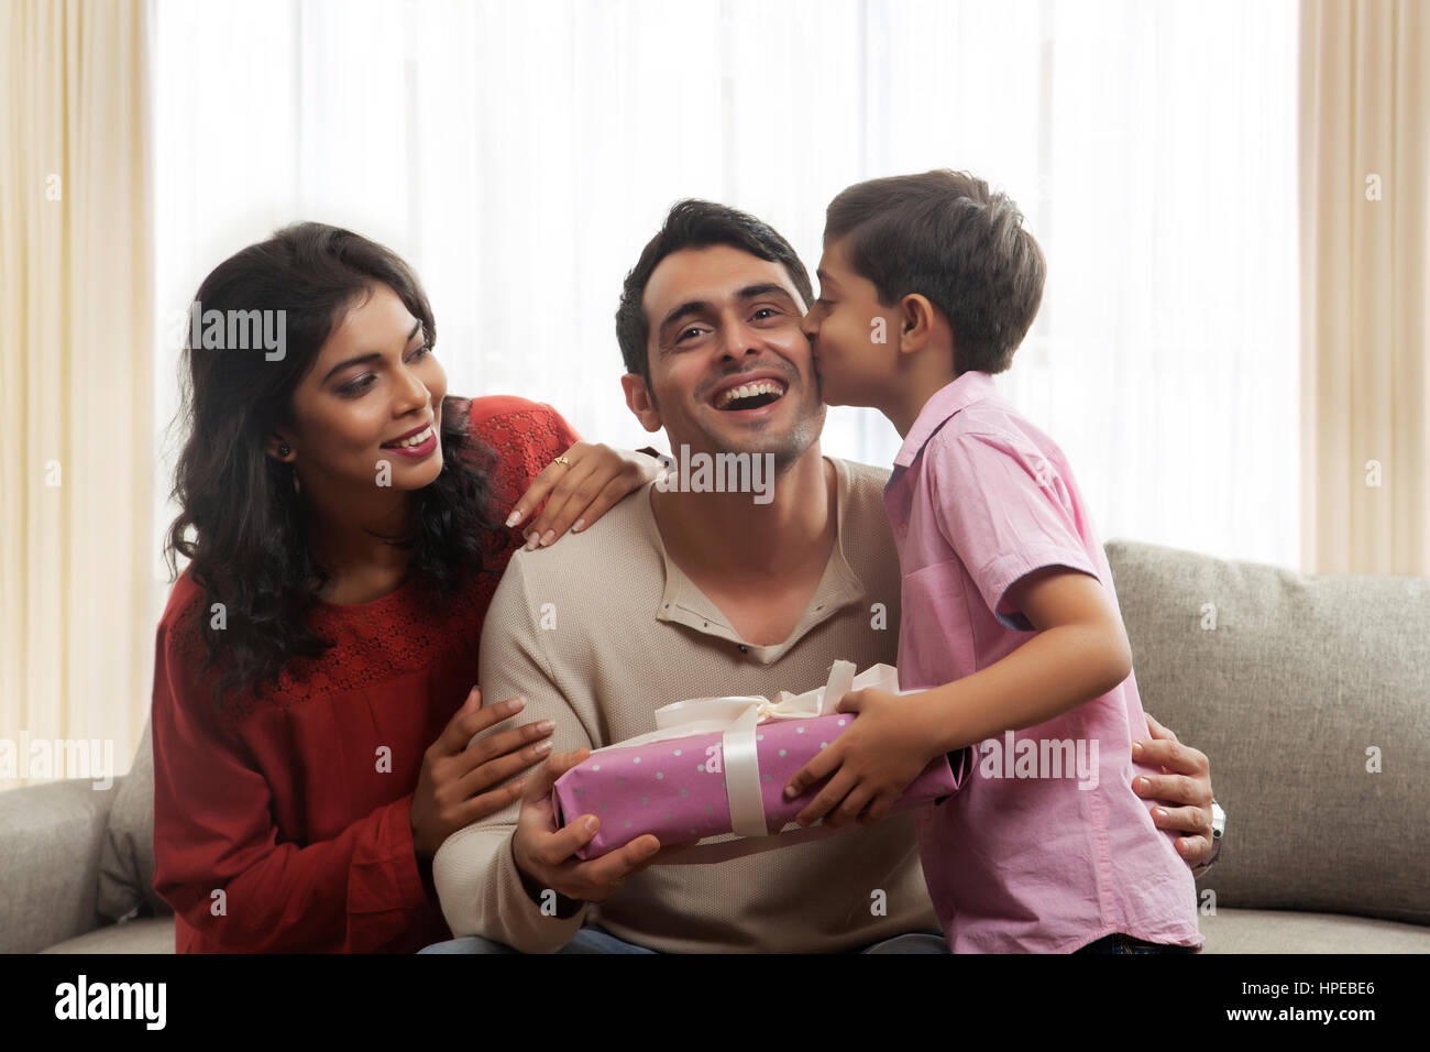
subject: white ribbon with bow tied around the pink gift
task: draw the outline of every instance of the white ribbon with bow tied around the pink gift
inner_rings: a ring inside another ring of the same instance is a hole
[[[804,694],[779,691],[776,700],[765,697],[696,697],[675,701],[655,710],[656,730],[639,734],[613,746],[596,749],[631,749],[652,741],[719,733],[724,756],[725,793],[729,797],[731,832],[736,836],[769,836],[765,824],[765,804],[759,790],[759,753],[755,729],[769,720],[811,720],[834,713],[844,696],[852,690],[879,687],[892,693],[898,688],[898,670],[877,664],[854,674],[852,661],[835,661],[829,680],[822,687]],[[909,691],[914,693],[914,691]]]

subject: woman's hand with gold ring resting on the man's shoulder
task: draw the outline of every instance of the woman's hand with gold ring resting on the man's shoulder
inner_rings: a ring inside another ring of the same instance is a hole
[[[562,457],[571,464],[552,461],[542,468],[506,520],[509,527],[525,522],[532,508],[546,498],[541,515],[522,531],[528,551],[555,542],[568,527],[581,532],[662,469],[661,461],[644,452],[591,442],[576,442]]]

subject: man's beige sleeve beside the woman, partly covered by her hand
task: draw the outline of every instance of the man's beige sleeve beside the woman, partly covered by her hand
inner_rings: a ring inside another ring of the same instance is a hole
[[[552,751],[592,747],[593,741],[558,684],[542,646],[539,604],[526,591],[525,560],[539,552],[518,551],[502,577],[482,630],[479,681],[483,704],[521,696],[526,707],[518,720],[552,720]],[[505,724],[503,724],[505,726]],[[438,902],[456,936],[480,935],[523,953],[548,953],[565,946],[581,929],[582,903],[569,917],[533,900],[512,854],[521,800],[449,836],[432,863]],[[558,905],[555,896],[548,903]],[[568,900],[569,902],[569,900]]]

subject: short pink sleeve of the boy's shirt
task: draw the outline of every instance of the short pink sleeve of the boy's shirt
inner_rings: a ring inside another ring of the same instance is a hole
[[[1034,570],[1097,577],[1068,481],[1035,448],[1005,435],[938,434],[925,457],[938,528],[1000,623],[1034,630],[1007,603],[1008,588]]]

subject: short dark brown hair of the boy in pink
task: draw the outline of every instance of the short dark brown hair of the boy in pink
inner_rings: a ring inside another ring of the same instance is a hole
[[[919,293],[944,312],[957,372],[1012,365],[1038,313],[1047,263],[1011,198],[948,169],[871,179],[829,202],[824,239],[841,238],[881,303]]]

